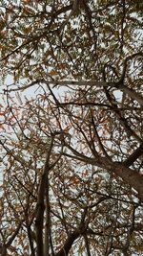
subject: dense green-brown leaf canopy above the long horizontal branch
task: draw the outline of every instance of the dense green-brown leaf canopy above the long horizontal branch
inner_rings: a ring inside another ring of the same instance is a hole
[[[142,4],[75,2],[73,9],[72,1],[4,1],[0,23],[4,75],[9,71],[14,81],[43,76],[99,79],[108,61],[120,71],[122,60],[134,53],[134,47],[140,48]]]

